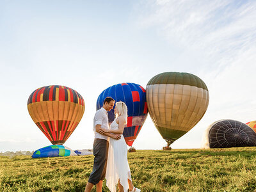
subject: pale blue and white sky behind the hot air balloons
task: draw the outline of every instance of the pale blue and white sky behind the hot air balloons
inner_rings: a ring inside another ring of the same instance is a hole
[[[58,84],[79,92],[81,122],[64,144],[92,148],[99,94],[114,84],[189,72],[209,90],[202,120],[172,148],[200,148],[208,125],[256,120],[256,1],[0,1],[0,152],[51,145],[29,95]],[[136,149],[161,149],[148,115]]]

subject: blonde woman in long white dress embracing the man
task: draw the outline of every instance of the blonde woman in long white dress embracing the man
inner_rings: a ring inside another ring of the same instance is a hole
[[[119,191],[140,192],[140,189],[134,188],[132,185],[131,171],[127,161],[127,146],[122,135],[124,125],[127,124],[127,106],[124,102],[116,102],[115,107],[116,118],[110,125],[110,129],[101,129],[100,133],[111,132],[113,134],[121,134],[120,140],[109,138],[108,163],[106,171],[106,184],[111,192],[116,191],[116,185]]]

